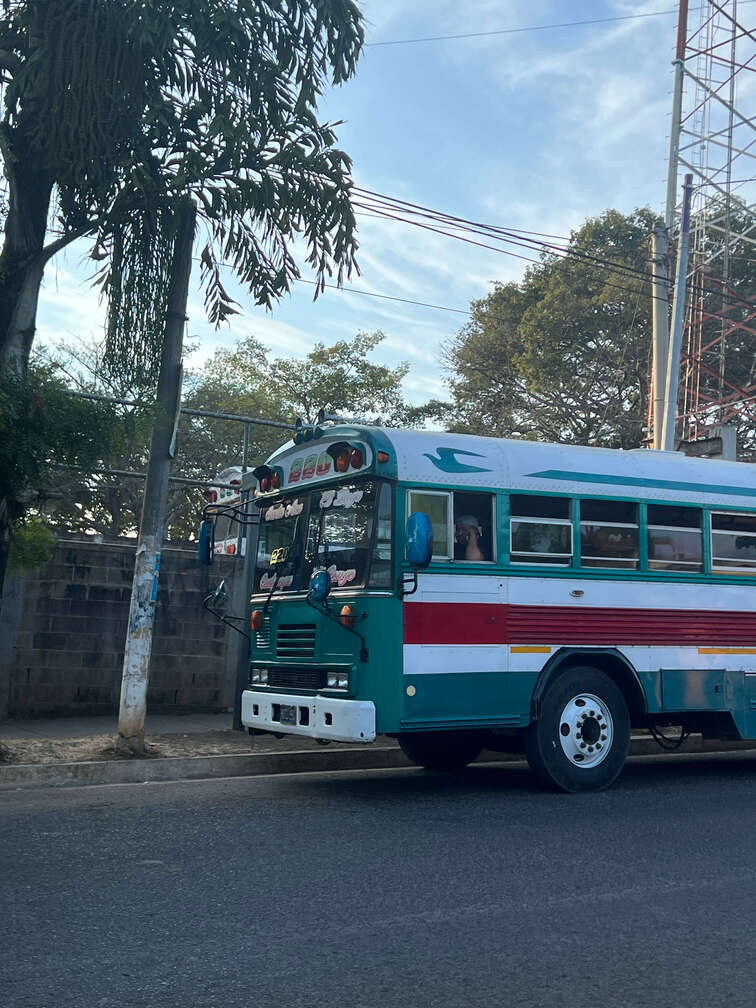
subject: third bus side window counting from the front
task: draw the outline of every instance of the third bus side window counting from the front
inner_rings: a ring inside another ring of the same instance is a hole
[[[582,500],[580,509],[581,565],[637,571],[638,505],[631,501]]]

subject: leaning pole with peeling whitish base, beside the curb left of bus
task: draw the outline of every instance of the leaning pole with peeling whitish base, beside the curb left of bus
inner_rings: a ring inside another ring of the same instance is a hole
[[[184,198],[176,214],[173,264],[168,289],[165,339],[157,382],[157,415],[152,431],[144,503],[136,547],[131,606],[118,713],[119,748],[133,755],[144,752],[147,680],[152,653],[152,631],[160,571],[160,548],[165,526],[170,465],[175,453],[175,427],[181,396],[181,349],[192,272],[197,205]]]

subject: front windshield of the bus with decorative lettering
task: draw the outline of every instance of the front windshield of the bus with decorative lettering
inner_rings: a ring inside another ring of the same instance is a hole
[[[391,585],[387,483],[312,489],[261,508],[255,592],[303,592],[317,571],[334,588]]]

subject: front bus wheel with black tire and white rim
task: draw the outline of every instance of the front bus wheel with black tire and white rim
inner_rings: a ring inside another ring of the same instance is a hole
[[[568,668],[548,684],[525,754],[538,776],[562,791],[600,791],[620,774],[630,715],[619,686],[598,668]]]

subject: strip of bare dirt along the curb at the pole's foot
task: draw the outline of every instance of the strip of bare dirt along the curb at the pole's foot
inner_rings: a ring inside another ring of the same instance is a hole
[[[380,739],[383,745],[391,740]],[[333,746],[344,748],[339,743]],[[249,753],[292,752],[320,749],[313,739],[273,735],[250,736],[243,732],[196,732],[186,735],[150,735],[145,746],[145,759],[165,759],[170,756],[233,756]],[[3,756],[6,751],[7,755]],[[0,743],[0,763],[84,763],[93,760],[121,760],[113,735],[88,735],[78,739],[4,739]]]

